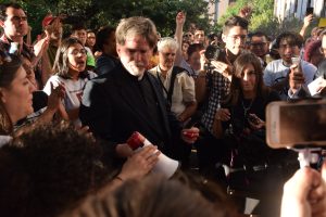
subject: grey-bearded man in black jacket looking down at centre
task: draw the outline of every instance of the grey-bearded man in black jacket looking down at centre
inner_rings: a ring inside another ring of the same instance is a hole
[[[188,143],[198,137],[197,128],[180,129],[167,108],[162,88],[147,72],[156,41],[156,29],[149,18],[122,20],[116,28],[121,63],[111,73],[89,81],[84,90],[79,113],[83,124],[122,157],[131,154],[126,141],[134,131],[174,158],[178,157],[174,149],[180,145],[180,137]]]

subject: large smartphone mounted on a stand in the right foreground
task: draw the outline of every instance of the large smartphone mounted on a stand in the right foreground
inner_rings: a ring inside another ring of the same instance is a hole
[[[266,140],[275,149],[326,145],[326,99],[269,103]]]

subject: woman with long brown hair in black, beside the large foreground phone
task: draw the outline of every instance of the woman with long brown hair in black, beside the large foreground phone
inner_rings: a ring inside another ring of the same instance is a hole
[[[234,66],[230,93],[217,110],[213,126],[216,137],[231,149],[229,187],[263,200],[260,203],[263,208],[265,204],[274,207],[277,200],[275,204],[266,200],[281,195],[285,177],[293,171],[293,167],[288,167],[292,163],[290,154],[286,150],[272,150],[265,143],[265,107],[279,97],[264,86],[261,63],[254,54],[241,54]]]

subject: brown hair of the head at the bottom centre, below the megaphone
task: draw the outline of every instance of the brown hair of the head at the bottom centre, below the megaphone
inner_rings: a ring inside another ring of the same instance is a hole
[[[89,196],[80,207],[62,217],[91,217],[96,213],[108,217],[230,216],[223,207],[205,200],[199,191],[177,180],[154,175],[141,180],[127,180],[105,195]]]

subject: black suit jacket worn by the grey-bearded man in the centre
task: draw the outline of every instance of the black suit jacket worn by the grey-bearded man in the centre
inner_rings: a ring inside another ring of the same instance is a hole
[[[125,143],[134,131],[139,131],[170,155],[170,145],[174,138],[179,138],[180,126],[175,116],[168,112],[156,78],[148,72],[145,76],[149,78],[158,100],[161,126],[154,126],[149,120],[143,99],[138,95],[138,91],[135,91],[135,88],[138,88],[137,78],[131,76],[121,63],[112,72],[87,82],[79,117],[83,125],[89,126],[97,138],[108,141],[113,149],[118,143]],[[176,137],[173,137],[172,131]]]

